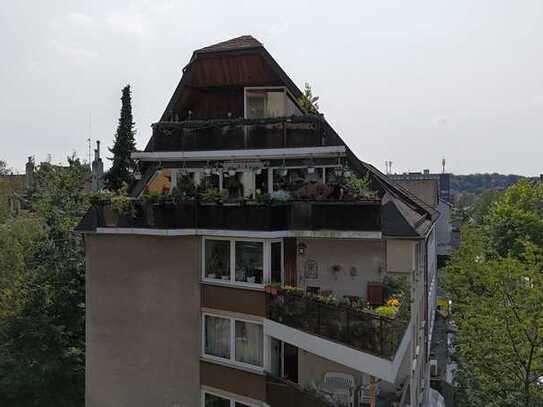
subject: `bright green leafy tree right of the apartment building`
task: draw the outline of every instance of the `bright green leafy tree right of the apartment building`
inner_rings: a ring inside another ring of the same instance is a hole
[[[510,187],[446,267],[460,406],[543,405],[542,207],[541,184]]]

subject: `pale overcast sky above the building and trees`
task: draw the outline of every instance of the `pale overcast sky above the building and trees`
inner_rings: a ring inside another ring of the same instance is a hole
[[[250,34],[381,170],[538,175],[542,21],[531,0],[2,0],[0,160],[111,146],[127,83],[143,149],[192,51]]]

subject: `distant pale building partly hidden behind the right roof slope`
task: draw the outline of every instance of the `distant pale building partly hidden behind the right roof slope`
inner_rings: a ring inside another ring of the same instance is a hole
[[[388,177],[437,209],[439,212],[436,224],[437,254],[439,256],[449,256],[452,248],[451,174],[435,174],[430,173],[429,170],[424,170],[423,172],[389,174]]]

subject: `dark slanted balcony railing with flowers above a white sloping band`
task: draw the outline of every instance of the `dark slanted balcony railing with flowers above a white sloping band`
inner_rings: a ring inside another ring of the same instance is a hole
[[[266,308],[273,321],[386,359],[394,358],[409,324],[405,300],[394,318],[285,291],[268,295]]]

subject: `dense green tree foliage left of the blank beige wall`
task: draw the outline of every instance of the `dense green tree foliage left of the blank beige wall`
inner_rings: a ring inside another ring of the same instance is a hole
[[[0,225],[0,405],[82,406],[85,267],[73,234],[87,166],[42,164],[31,210]]]

